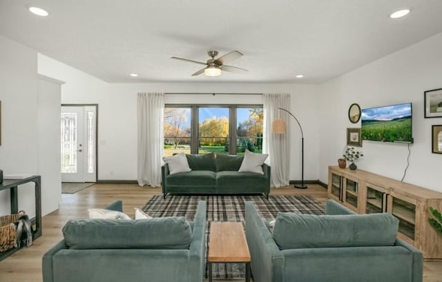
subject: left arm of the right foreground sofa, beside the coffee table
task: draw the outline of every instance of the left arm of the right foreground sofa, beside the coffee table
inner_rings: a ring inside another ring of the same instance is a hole
[[[285,259],[253,202],[245,202],[246,238],[255,282],[284,281]]]

